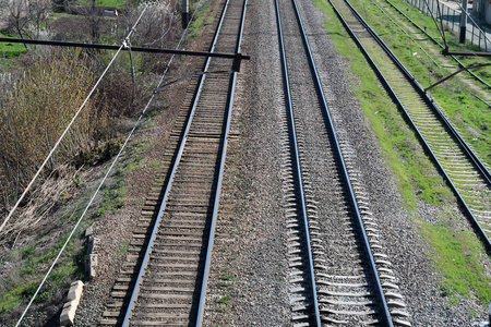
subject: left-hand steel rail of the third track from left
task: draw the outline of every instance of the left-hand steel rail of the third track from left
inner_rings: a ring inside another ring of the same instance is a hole
[[[431,159],[433,160],[433,162],[436,165],[436,168],[443,173],[443,175],[445,177],[446,181],[450,183],[451,189],[454,191],[454,194],[456,195],[456,197],[460,201],[460,203],[464,205],[465,207],[465,211],[470,216],[471,218],[471,222],[475,225],[475,227],[477,228],[477,230],[479,231],[479,235],[483,239],[487,247],[489,250],[491,250],[491,241],[488,238],[488,235],[486,234],[484,230],[482,229],[481,225],[479,223],[479,221],[476,219],[476,217],[474,216],[472,211],[470,210],[469,206],[467,205],[467,203],[465,202],[464,197],[460,195],[460,193],[458,192],[457,187],[454,185],[454,183],[452,182],[452,179],[448,177],[448,174],[446,173],[445,169],[443,168],[443,166],[440,164],[440,160],[436,158],[435,154],[433,153],[433,150],[431,149],[430,145],[427,143],[427,141],[424,140],[424,137],[422,136],[421,132],[419,131],[419,129],[416,126],[415,122],[412,121],[412,119],[410,118],[409,113],[407,112],[406,108],[404,107],[403,102],[400,101],[400,99],[397,97],[396,93],[394,92],[394,89],[392,88],[392,86],[388,84],[387,80],[385,78],[384,74],[381,72],[381,70],[379,69],[379,66],[376,65],[376,63],[373,61],[373,59],[370,57],[369,52],[367,51],[367,49],[363,47],[363,45],[361,44],[361,41],[359,40],[359,38],[356,36],[355,32],[349,27],[348,23],[346,22],[346,20],[343,17],[343,15],[340,14],[340,12],[338,11],[338,9],[336,8],[336,5],[332,2],[332,0],[328,0],[330,4],[333,7],[334,11],[336,12],[336,15],[339,17],[339,20],[342,21],[343,25],[345,26],[345,28],[348,31],[348,34],[351,36],[351,38],[354,39],[354,41],[357,44],[357,46],[361,49],[362,53],[364,55],[364,57],[367,58],[369,64],[372,66],[372,69],[374,70],[375,74],[379,76],[380,81],[382,82],[382,84],[385,86],[385,89],[387,90],[387,93],[391,95],[391,97],[394,99],[394,101],[396,102],[396,105],[400,108],[400,110],[403,110],[403,113],[406,118],[406,120],[409,122],[410,126],[415,130],[415,132],[418,135],[419,141],[421,142],[421,144],[423,145],[424,149],[430,154]],[[346,2],[346,0],[345,0]]]

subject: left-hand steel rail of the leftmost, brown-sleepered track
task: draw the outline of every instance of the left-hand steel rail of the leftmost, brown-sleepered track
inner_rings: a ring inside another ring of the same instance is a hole
[[[217,28],[215,31],[215,35],[213,37],[213,43],[212,43],[212,46],[211,46],[211,49],[209,49],[211,52],[213,52],[213,50],[215,49],[215,45],[216,45],[216,41],[218,39],[218,34],[220,32],[221,24],[224,22],[224,17],[225,17],[225,13],[226,13],[227,8],[228,8],[228,3],[229,3],[229,0],[226,1],[225,5],[224,5],[224,9],[221,11],[220,20],[219,20],[218,26],[217,26]],[[211,62],[211,58],[208,57],[208,58],[206,58],[203,71],[206,71],[208,69],[209,62]],[[187,121],[187,124],[185,124],[185,130],[184,130],[184,133],[182,135],[181,142],[179,144],[179,150],[178,150],[178,154],[177,154],[176,159],[175,159],[173,165],[172,165],[172,170],[171,170],[171,173],[169,175],[169,181],[168,181],[168,183],[166,185],[166,190],[164,192],[164,197],[163,197],[163,201],[161,201],[161,204],[160,204],[160,207],[159,207],[159,211],[158,211],[157,218],[155,220],[155,225],[154,225],[154,228],[152,230],[151,238],[148,240],[148,245],[146,247],[145,255],[144,255],[142,265],[140,267],[139,276],[136,278],[135,286],[134,286],[133,292],[131,294],[131,299],[130,299],[130,303],[129,303],[128,308],[127,308],[127,313],[124,315],[124,319],[123,319],[123,323],[122,323],[123,327],[128,326],[128,324],[130,322],[130,318],[131,318],[131,313],[132,313],[133,305],[136,302],[136,299],[139,296],[140,284],[141,284],[142,278],[143,278],[143,274],[145,272],[146,265],[148,264],[148,258],[149,258],[149,254],[152,252],[153,242],[154,242],[154,239],[155,239],[155,237],[157,234],[158,225],[160,222],[164,209],[165,209],[165,207],[167,205],[167,198],[168,198],[168,195],[169,195],[169,192],[170,192],[170,187],[172,185],[172,181],[173,181],[173,178],[176,175],[177,168],[179,166],[179,162],[180,162],[181,157],[182,157],[182,153],[184,150],[184,145],[185,145],[185,142],[187,142],[187,138],[188,138],[188,135],[189,135],[189,131],[190,131],[190,128],[191,128],[191,122],[193,120],[194,112],[195,112],[195,109],[197,107],[197,100],[200,99],[200,95],[201,95],[201,92],[202,92],[205,78],[206,78],[206,75],[201,75],[200,76],[200,81],[199,81],[199,84],[197,84],[197,87],[196,87],[196,94],[194,95],[193,105],[192,105],[192,108],[191,108],[191,111],[190,111],[190,114],[188,117],[188,121]]]

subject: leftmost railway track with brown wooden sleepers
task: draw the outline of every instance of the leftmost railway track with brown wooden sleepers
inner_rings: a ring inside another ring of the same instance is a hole
[[[246,3],[225,2],[209,51],[240,51]],[[231,60],[208,58],[203,71],[219,73],[191,82],[172,132],[177,150],[166,154],[169,173],[148,198],[101,326],[201,324],[233,99],[231,66]]]

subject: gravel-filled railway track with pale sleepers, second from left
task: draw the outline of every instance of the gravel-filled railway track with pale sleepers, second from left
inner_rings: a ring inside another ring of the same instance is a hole
[[[370,202],[331,120],[295,1],[276,2],[284,197],[295,326],[410,326]],[[309,251],[312,251],[310,254]],[[312,274],[313,271],[313,274]]]

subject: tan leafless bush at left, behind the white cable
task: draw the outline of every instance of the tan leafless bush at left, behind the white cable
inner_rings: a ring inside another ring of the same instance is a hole
[[[34,175],[94,84],[86,56],[55,52],[39,59],[4,95],[0,108],[0,198],[5,207]],[[45,175],[97,145],[106,110],[89,100],[46,166]]]

